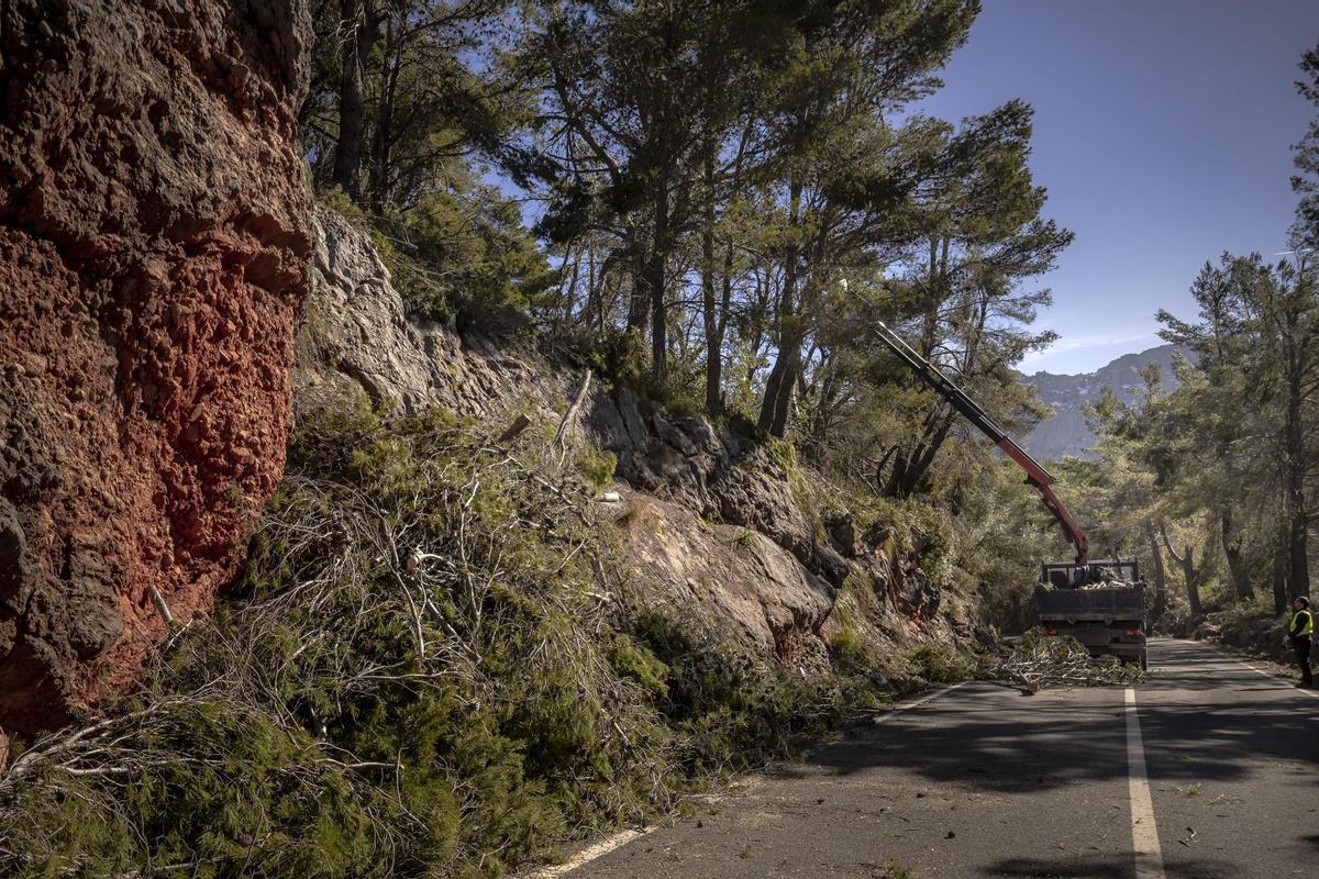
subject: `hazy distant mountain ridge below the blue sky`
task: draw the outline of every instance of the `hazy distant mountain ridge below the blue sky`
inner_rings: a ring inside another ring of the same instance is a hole
[[[1173,358],[1177,345],[1158,345],[1134,354],[1122,354],[1107,366],[1079,376],[1059,376],[1038,372],[1024,376],[1022,382],[1033,386],[1039,398],[1054,410],[1054,416],[1035,426],[1026,435],[1022,445],[1042,461],[1068,456],[1089,457],[1095,447],[1095,435],[1086,427],[1082,403],[1099,399],[1104,387],[1112,387],[1124,403],[1137,399],[1144,387],[1140,370],[1150,364],[1162,368],[1163,390],[1171,393],[1181,382],[1173,374]]]

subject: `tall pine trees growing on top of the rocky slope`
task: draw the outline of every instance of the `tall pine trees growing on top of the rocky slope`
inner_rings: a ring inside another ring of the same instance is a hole
[[[1029,329],[1049,303],[1030,285],[1071,240],[1042,215],[1029,107],[918,112],[977,12],[323,3],[303,140],[317,181],[389,240],[415,310],[517,312],[621,345],[667,398],[820,461],[852,444],[835,428],[882,378],[911,405],[874,452],[878,489],[910,494],[954,416],[926,418],[938,402],[877,366],[864,322],[897,320],[944,369],[1005,391],[1051,340]],[[1006,397],[1001,414],[1029,418]]]

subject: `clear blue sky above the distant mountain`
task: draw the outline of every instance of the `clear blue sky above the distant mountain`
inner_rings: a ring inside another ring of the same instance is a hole
[[[1316,41],[1315,0],[984,0],[922,108],[1035,108],[1031,167],[1076,241],[1042,279],[1062,339],[1025,372],[1161,344],[1154,312],[1194,316],[1207,258],[1286,249],[1290,145],[1312,115],[1293,82]]]

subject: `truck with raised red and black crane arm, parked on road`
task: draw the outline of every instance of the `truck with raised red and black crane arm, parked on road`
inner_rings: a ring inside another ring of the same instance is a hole
[[[1046,634],[1071,637],[1091,655],[1113,655],[1125,662],[1146,662],[1145,584],[1134,561],[1091,561],[1089,540],[1054,492],[1053,473],[1008,436],[998,424],[948,376],[917,353],[881,320],[877,335],[893,354],[939,394],[955,411],[989,438],[1026,473],[1026,484],[1039,492],[1045,506],[1075,547],[1072,561],[1045,563],[1035,589],[1035,610]]]

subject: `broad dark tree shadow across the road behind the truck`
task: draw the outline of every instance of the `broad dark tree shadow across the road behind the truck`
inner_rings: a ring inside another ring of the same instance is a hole
[[[1161,780],[1224,781],[1248,778],[1261,763],[1319,764],[1319,705],[1204,648],[1178,646],[1165,655],[1178,666],[1137,691],[1146,752]],[[968,687],[820,749],[811,762],[840,775],[906,766],[930,781],[995,793],[1125,778],[1124,696],[1120,688],[1031,697]]]

